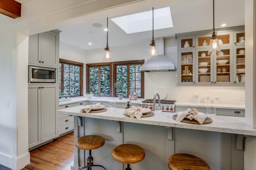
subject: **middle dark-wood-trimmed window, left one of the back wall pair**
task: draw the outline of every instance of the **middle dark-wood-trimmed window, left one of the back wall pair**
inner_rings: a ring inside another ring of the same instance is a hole
[[[86,64],[86,92],[112,96],[112,63]]]

